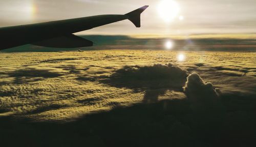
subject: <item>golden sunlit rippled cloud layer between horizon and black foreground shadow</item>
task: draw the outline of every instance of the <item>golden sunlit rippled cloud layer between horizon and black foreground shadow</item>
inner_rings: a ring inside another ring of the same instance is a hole
[[[177,62],[180,53],[186,56],[184,62]],[[1,53],[0,112],[36,121],[69,121],[141,102],[214,100],[216,91],[218,99],[252,98],[254,56],[154,50]]]

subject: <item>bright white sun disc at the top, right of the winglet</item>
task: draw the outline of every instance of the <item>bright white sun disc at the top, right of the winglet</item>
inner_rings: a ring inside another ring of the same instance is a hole
[[[158,5],[158,13],[164,21],[172,21],[180,11],[180,7],[177,2],[173,0],[164,0]]]

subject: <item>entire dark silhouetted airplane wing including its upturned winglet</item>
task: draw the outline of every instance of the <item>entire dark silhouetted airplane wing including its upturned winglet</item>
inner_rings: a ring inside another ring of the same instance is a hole
[[[51,22],[9,26],[0,28],[0,50],[25,44],[46,47],[74,48],[92,46],[93,42],[77,37],[73,33],[94,27],[129,19],[140,27],[140,14],[148,6],[143,6],[124,15],[97,15]]]

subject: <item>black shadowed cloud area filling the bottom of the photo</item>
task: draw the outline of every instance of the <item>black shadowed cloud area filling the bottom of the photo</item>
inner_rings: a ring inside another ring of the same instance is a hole
[[[66,123],[5,116],[1,146],[255,145],[255,99],[223,95],[222,103],[222,115],[207,107],[194,111],[189,99],[174,99],[119,106]]]

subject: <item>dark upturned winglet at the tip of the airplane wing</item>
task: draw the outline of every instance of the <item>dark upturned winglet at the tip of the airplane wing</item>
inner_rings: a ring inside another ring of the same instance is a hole
[[[130,13],[127,13],[127,14],[125,14],[125,15],[128,16],[128,19],[129,19],[130,21],[132,21],[133,24],[134,24],[136,27],[140,27],[140,14],[141,14],[143,11],[145,11],[145,10],[147,9],[147,7],[149,7],[149,6],[143,6],[143,7],[139,8],[139,9],[136,9],[136,10],[134,10],[134,11],[132,11],[132,12],[130,12]]]

